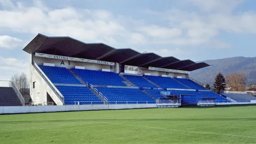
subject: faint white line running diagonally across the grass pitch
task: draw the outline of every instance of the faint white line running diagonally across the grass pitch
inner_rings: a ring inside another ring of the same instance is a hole
[[[162,128],[162,127],[151,127],[151,126],[141,126],[141,125],[131,125],[131,124],[119,124],[119,123],[111,123],[111,122],[100,122],[100,123],[116,124],[116,125],[127,125],[127,126],[137,126],[137,127],[145,127],[145,128],[149,128],[149,129],[158,129],[158,130],[170,130],[170,131],[190,132],[190,133],[199,133],[199,134],[214,134],[214,135],[224,135],[224,136],[230,136],[230,137],[243,137],[243,138],[253,138],[253,139],[256,139],[256,137],[251,137],[251,136],[246,136],[246,135],[186,131],[186,130],[166,129],[166,128]]]

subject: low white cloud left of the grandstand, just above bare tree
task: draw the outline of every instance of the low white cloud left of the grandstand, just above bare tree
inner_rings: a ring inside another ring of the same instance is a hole
[[[29,77],[29,62],[16,58],[0,57],[0,79],[9,80],[14,74],[25,73]]]

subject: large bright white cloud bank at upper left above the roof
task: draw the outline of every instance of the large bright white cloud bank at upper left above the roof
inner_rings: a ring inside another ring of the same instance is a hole
[[[0,28],[19,33],[71,36],[85,42],[108,44],[112,44],[115,37],[129,35],[118,18],[104,10],[73,7],[51,10],[40,3],[27,9],[2,10],[0,17]]]

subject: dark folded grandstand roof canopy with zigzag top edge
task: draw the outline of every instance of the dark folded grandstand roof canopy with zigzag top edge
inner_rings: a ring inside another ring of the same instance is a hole
[[[207,63],[179,60],[174,57],[161,57],[155,53],[139,53],[130,48],[115,49],[103,43],[84,43],[71,37],[49,37],[37,34],[23,51],[34,54],[46,53],[67,57],[118,62],[121,65],[139,67],[158,67],[193,71],[208,67]]]

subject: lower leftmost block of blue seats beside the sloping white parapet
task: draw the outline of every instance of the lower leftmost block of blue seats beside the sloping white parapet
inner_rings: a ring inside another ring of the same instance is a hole
[[[56,86],[64,97],[65,105],[103,104],[103,102],[84,86]],[[77,104],[77,103],[76,103]]]

